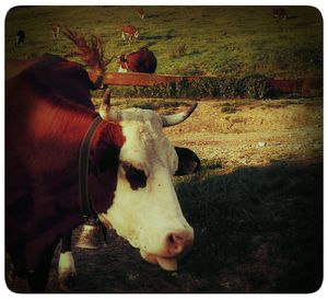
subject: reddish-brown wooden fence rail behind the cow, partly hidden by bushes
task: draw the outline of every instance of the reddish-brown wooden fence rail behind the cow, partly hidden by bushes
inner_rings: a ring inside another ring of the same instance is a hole
[[[89,73],[92,80],[96,74]],[[166,84],[169,82],[179,82],[187,80],[189,82],[209,78],[203,76],[169,76],[169,74],[148,74],[148,73],[117,73],[108,72],[105,76],[104,83],[109,85],[138,85],[152,86]],[[273,91],[282,93],[296,93],[301,96],[321,96],[321,78],[302,78],[302,79],[269,79],[269,84]]]

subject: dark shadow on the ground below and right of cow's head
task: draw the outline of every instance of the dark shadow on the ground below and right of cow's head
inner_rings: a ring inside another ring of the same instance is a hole
[[[323,278],[323,164],[272,163],[222,174],[207,163],[176,189],[195,246],[166,273],[108,233],[74,249],[72,292],[312,292]],[[47,291],[57,292],[58,250]]]

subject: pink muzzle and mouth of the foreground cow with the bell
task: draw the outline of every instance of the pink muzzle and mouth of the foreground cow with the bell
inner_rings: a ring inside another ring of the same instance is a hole
[[[166,234],[164,245],[159,253],[140,250],[143,259],[151,264],[159,264],[165,270],[177,270],[177,258],[188,253],[194,244],[194,230],[172,231]]]

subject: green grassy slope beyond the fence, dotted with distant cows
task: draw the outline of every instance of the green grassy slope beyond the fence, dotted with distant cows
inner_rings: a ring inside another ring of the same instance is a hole
[[[270,7],[150,7],[140,20],[131,7],[23,8],[10,11],[5,20],[7,59],[69,53],[71,46],[63,36],[51,39],[51,23],[59,22],[99,34],[107,58],[148,46],[157,57],[157,73],[321,76],[320,13],[309,7],[289,7],[289,19],[278,21],[271,11]],[[127,23],[140,31],[140,38],[130,46],[120,41],[120,27]],[[26,32],[26,46],[15,48],[19,28]],[[177,55],[183,45],[186,51]],[[108,71],[116,70],[113,61]]]

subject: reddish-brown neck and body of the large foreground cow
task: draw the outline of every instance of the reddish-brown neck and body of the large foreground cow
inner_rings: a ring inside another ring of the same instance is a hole
[[[89,83],[80,65],[56,57],[46,57],[7,81],[5,250],[16,270],[28,274],[33,290],[44,289],[60,236],[83,221],[79,149],[97,116]],[[122,143],[120,126],[103,122],[93,139],[91,170],[97,170],[99,160],[112,164],[89,177],[96,210],[110,206]],[[105,150],[108,154],[103,158]]]

